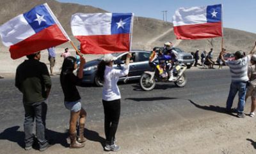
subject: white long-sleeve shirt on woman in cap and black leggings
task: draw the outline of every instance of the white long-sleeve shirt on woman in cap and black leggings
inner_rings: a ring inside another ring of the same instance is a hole
[[[113,67],[106,66],[104,72],[104,83],[102,99],[104,101],[113,101],[116,99],[121,99],[119,88],[117,87],[117,82],[119,77],[126,76],[129,73],[129,65],[124,65],[124,69],[114,69]]]

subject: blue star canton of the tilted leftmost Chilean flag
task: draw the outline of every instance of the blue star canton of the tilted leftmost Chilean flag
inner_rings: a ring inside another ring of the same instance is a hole
[[[40,32],[43,29],[56,24],[45,6],[39,5],[32,10],[23,14],[28,24],[35,32]]]

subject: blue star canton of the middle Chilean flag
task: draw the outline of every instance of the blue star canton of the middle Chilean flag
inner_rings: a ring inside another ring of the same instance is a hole
[[[132,13],[113,13],[111,34],[129,34],[131,31]]]

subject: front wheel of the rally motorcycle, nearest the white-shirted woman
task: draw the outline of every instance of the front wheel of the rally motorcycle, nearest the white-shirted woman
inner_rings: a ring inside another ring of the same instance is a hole
[[[152,81],[150,81],[150,75],[147,73],[143,73],[140,78],[140,87],[145,90],[149,91],[156,87],[156,80],[153,78]]]

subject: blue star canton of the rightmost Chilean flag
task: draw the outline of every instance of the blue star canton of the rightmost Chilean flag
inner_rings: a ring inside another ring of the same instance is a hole
[[[221,4],[207,6],[206,13],[207,22],[221,22]]]

